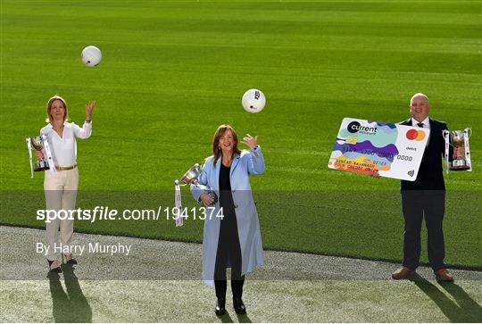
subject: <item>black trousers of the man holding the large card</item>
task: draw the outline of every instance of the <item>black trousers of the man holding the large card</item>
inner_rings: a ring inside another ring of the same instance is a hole
[[[420,263],[420,230],[425,218],[428,262],[434,271],[445,268],[443,220],[445,190],[403,190],[403,266],[417,269]]]

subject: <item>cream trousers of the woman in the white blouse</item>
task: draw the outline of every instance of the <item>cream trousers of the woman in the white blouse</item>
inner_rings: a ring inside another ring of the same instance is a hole
[[[46,209],[57,212],[61,210],[66,212],[75,210],[77,188],[79,187],[79,170],[74,168],[72,170],[57,171],[57,173],[46,170],[45,173]],[[62,218],[64,218],[64,215],[62,212]],[[73,220],[59,220],[57,218],[51,222],[46,222],[47,259],[50,261],[56,260],[54,246],[57,248],[61,246],[59,245],[59,228],[62,248],[65,246],[70,247],[73,234]],[[71,250],[69,249],[69,251]]]

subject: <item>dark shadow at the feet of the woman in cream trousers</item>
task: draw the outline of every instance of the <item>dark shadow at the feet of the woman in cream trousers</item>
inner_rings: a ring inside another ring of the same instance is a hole
[[[63,290],[60,275],[49,272],[47,278],[50,283],[50,295],[52,296],[52,313],[55,322],[61,323],[86,323],[92,322],[92,309],[82,293],[79,279],[73,272],[74,268],[69,264],[62,264],[63,278],[66,292]]]

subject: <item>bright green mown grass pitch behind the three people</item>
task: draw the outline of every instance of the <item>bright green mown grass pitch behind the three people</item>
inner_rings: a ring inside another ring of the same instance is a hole
[[[43,175],[29,179],[24,138],[60,94],[77,123],[97,101],[93,135],[78,141],[80,207],[127,205],[128,196],[137,208],[171,206],[173,180],[210,154],[214,130],[229,123],[257,135],[265,155],[252,187],[266,248],[399,261],[399,181],[327,163],[344,117],[398,122],[423,92],[434,118],[473,130],[474,170],[446,177],[446,262],[482,266],[479,1],[3,0],[1,9],[1,223],[44,226],[27,208],[44,206]],[[79,59],[88,45],[104,54],[93,69]],[[255,115],[240,104],[251,87],[267,96]],[[200,241],[202,227],[76,223],[186,241]]]

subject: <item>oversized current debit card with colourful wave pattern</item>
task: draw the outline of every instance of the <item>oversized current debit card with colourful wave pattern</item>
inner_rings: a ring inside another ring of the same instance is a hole
[[[429,129],[345,118],[328,168],[414,181],[427,145]]]

